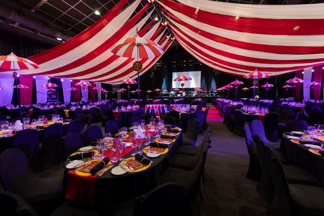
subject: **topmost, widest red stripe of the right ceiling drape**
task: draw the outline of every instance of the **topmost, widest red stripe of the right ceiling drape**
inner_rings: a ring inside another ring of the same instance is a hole
[[[266,35],[314,35],[324,34],[324,19],[262,19],[251,17],[239,17],[210,13],[197,10],[191,6],[170,0],[163,2],[175,11],[217,28],[231,31],[247,32]],[[163,6],[163,4],[161,4]],[[292,31],[292,29],[295,29]]]

